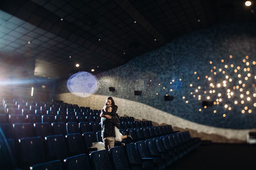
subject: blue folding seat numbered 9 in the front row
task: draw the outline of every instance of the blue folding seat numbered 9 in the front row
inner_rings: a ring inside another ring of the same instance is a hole
[[[92,152],[91,155],[91,166],[94,170],[112,170],[111,162],[108,157],[107,150],[99,150]]]

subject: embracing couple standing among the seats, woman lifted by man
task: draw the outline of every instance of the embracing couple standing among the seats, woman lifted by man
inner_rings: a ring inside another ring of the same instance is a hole
[[[112,97],[107,97],[105,106],[101,110],[101,137],[106,150],[113,148],[115,141],[121,142],[123,139],[130,138],[131,134],[121,134],[119,132],[120,120],[116,113],[117,105]]]

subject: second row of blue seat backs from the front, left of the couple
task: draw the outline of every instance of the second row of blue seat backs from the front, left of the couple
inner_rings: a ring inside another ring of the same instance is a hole
[[[68,156],[88,155],[88,147],[91,147],[95,140],[96,136],[93,132],[83,135],[80,133],[68,134],[66,137],[51,135],[47,136],[44,142],[41,137],[21,138],[18,144],[15,144],[12,139],[0,140],[0,154],[5,155],[5,158],[0,160],[0,164],[3,165],[1,168],[16,168],[16,154],[18,166],[23,169],[51,160],[64,160],[67,163],[72,160],[67,158]]]

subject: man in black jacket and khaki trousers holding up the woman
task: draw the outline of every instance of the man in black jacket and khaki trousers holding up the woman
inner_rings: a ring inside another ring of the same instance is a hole
[[[105,112],[111,112],[111,106],[104,107]],[[114,115],[112,118],[101,118],[101,137],[106,150],[113,148],[115,145],[115,126],[120,129],[120,120]]]

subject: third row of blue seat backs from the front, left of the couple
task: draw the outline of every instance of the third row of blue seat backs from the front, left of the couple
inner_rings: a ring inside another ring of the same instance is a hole
[[[13,128],[9,124],[0,124],[1,134],[0,139],[15,139],[17,141],[24,137],[42,138],[49,135],[67,135],[73,133],[87,133],[101,131],[99,122],[63,122],[59,123],[35,123],[34,126],[30,123],[16,123]]]

